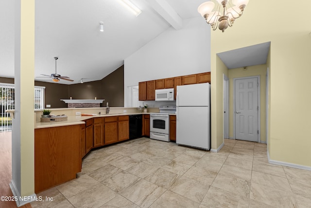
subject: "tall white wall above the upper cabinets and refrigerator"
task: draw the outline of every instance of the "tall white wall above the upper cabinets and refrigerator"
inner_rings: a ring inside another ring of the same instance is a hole
[[[138,82],[210,72],[210,26],[200,18],[184,19],[124,60],[124,107],[129,86]]]

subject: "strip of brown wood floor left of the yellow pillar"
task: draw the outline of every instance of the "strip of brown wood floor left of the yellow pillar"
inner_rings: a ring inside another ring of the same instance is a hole
[[[13,196],[10,189],[12,179],[11,132],[0,132],[0,196]],[[15,201],[1,201],[0,208],[17,208]],[[30,204],[20,208],[31,208]]]

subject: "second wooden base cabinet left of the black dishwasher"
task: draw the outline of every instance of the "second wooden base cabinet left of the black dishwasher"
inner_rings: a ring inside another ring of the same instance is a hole
[[[109,116],[104,119],[104,144],[118,142],[118,116]]]

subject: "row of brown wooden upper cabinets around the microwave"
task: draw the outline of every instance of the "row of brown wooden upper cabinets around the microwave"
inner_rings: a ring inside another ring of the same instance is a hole
[[[178,85],[197,84],[206,82],[210,83],[210,72],[139,82],[138,99],[142,101],[155,100],[155,90],[168,89],[168,88],[174,88],[175,94],[174,98],[176,99],[176,87]]]

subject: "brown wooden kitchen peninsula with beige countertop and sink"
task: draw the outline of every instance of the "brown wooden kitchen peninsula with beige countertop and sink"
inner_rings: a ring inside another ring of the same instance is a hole
[[[76,178],[82,158],[91,149],[129,139],[129,115],[142,114],[137,108],[110,108],[109,114],[104,114],[105,110],[51,109],[53,114],[68,116],[60,122],[39,122],[41,111],[35,111],[35,193]]]

